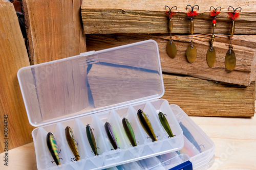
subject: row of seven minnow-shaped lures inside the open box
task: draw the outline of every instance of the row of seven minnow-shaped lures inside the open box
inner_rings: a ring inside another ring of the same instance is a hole
[[[137,116],[138,116],[138,119],[139,119],[139,122],[140,122],[141,126],[143,127],[143,129],[145,130],[145,132],[147,133],[149,138],[151,138],[153,142],[157,141],[157,136],[156,136],[156,134],[155,134],[155,132],[152,128],[150,120],[147,118],[147,115],[141,109],[139,109],[138,112],[137,112]],[[159,117],[159,120],[160,120],[163,128],[165,129],[165,131],[169,135],[168,137],[174,137],[173,132],[170,129],[170,126],[167,122],[167,119],[166,119],[165,115],[162,112],[159,112],[158,117]],[[134,134],[133,128],[132,128],[129,120],[127,120],[127,118],[124,117],[122,119],[122,125],[123,125],[123,129],[125,131],[125,134],[126,134],[127,138],[129,139],[131,145],[133,147],[136,147],[137,146],[137,141],[136,141],[135,134]],[[112,147],[115,150],[120,149],[118,147],[116,137],[114,136],[114,133],[113,133],[113,130],[112,130],[112,127],[111,127],[110,123],[106,122],[104,124],[104,129],[105,129],[106,135],[108,136]],[[92,152],[95,154],[95,156],[98,156],[99,155],[98,154],[98,149],[99,148],[96,145],[95,137],[94,137],[94,134],[93,134],[93,129],[90,127],[89,124],[86,126],[86,134],[87,134],[89,144],[92,148]],[[65,129],[65,135],[66,135],[66,139],[67,139],[67,142],[69,144],[69,147],[70,147],[72,153],[74,154],[74,158],[71,158],[71,161],[80,160],[78,144],[76,142],[74,133],[73,133],[72,129],[69,126],[67,126],[66,129]],[[49,132],[47,134],[46,142],[47,142],[47,147],[48,147],[48,149],[51,153],[51,156],[53,158],[52,163],[55,162],[56,165],[60,165],[60,159],[62,159],[62,158],[59,157],[60,150],[58,149],[56,139],[55,139],[54,135],[51,132]]]

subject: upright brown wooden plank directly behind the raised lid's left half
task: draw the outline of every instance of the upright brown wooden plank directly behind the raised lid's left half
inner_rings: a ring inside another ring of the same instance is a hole
[[[23,1],[31,64],[71,57],[86,51],[80,1]]]

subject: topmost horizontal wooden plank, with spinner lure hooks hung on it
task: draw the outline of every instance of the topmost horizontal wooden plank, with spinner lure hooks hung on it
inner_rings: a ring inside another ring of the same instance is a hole
[[[228,7],[242,7],[240,17],[236,20],[236,34],[256,33],[256,1],[117,1],[95,0],[83,1],[81,7],[83,28],[86,34],[113,33],[168,33],[168,19],[164,6],[177,6],[173,17],[173,33],[189,33],[189,20],[186,15],[187,5],[198,5],[199,15],[195,17],[195,34],[212,33],[209,8],[222,7],[217,17],[216,34],[229,34],[231,19],[227,17]]]

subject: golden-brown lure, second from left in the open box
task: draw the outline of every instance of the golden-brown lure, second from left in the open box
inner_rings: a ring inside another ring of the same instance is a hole
[[[74,133],[73,133],[72,129],[69,126],[66,127],[65,134],[66,134],[66,139],[67,139],[68,144],[69,144],[69,148],[71,149],[72,153],[75,156],[75,160],[76,161],[80,160],[80,154],[79,154],[79,151],[78,151],[77,142],[76,142]]]

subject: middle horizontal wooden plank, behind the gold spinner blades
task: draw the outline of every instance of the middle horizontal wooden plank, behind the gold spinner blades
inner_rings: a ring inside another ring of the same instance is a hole
[[[197,46],[198,55],[194,63],[186,59],[186,48],[189,45],[189,35],[174,36],[177,46],[177,56],[172,59],[166,53],[166,44],[169,36],[162,34],[115,34],[115,35],[88,35],[89,50],[102,50],[113,46],[133,43],[146,39],[154,39],[158,42],[162,70],[164,72],[190,75],[198,78],[216,80],[233,84],[248,86],[254,76],[255,70],[255,35],[233,36],[233,50],[237,56],[237,65],[232,71],[225,68],[225,55],[228,51],[229,39],[225,35],[215,38],[216,63],[209,68],[206,62],[206,53],[209,48],[209,35],[195,35],[194,44]],[[253,39],[254,38],[254,39]],[[129,59],[127,59],[129,60]]]

